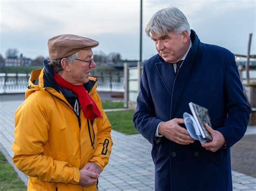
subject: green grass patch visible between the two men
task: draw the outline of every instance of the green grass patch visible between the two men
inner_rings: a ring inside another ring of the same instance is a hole
[[[112,125],[112,129],[127,135],[138,134],[132,123],[134,110],[106,112],[107,118]]]

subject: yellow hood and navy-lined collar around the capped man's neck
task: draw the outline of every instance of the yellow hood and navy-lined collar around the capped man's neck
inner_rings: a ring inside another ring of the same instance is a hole
[[[49,59],[45,59],[43,62],[43,69],[32,70],[29,79],[29,86],[26,89],[25,98],[27,98],[34,91],[38,90],[45,91],[46,93],[52,94],[58,98],[63,98],[64,96],[67,100],[77,98],[72,91],[58,86],[53,79],[53,72],[48,63]],[[89,95],[92,95],[96,92],[97,79],[95,77],[89,77],[89,79],[89,82],[85,83],[84,87]]]

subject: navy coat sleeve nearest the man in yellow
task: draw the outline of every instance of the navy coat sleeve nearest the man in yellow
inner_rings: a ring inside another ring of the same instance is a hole
[[[162,120],[156,117],[154,104],[150,93],[150,84],[147,79],[145,69],[143,67],[142,79],[140,80],[140,92],[137,97],[137,108],[133,115],[133,124],[135,128],[145,137],[151,144],[154,144],[157,125]]]

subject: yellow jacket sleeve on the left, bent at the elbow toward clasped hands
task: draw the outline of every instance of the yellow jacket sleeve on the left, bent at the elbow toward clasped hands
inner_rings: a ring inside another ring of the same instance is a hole
[[[42,181],[78,184],[78,168],[43,154],[50,125],[46,121],[47,110],[38,102],[41,100],[26,99],[15,112],[14,164],[26,175]]]

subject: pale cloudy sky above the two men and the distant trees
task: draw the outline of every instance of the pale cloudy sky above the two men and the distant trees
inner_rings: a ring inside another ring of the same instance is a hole
[[[143,0],[143,60],[156,54],[146,36],[146,24],[155,12],[174,6],[187,17],[200,41],[247,54],[256,54],[256,0]],[[0,0],[0,54],[9,48],[35,59],[48,56],[48,39],[77,34],[99,41],[93,51],[120,53],[139,59],[140,0],[12,1]]]

